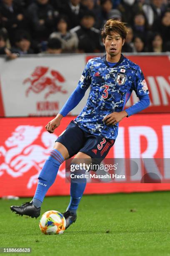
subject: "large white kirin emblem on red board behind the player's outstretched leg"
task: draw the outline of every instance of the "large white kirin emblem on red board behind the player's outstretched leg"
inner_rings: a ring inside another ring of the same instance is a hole
[[[34,144],[37,138],[42,141],[43,146]],[[0,159],[3,159],[0,176],[6,172],[11,177],[18,178],[34,168],[36,174],[30,176],[27,184],[30,189],[33,184],[37,184],[37,178],[56,139],[55,134],[42,132],[42,126],[19,125],[7,138],[5,145],[0,146]],[[58,175],[65,178],[65,169],[60,169]]]

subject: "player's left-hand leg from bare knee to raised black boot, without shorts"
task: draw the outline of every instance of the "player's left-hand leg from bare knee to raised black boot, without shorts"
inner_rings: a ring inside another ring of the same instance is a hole
[[[55,182],[58,169],[62,162],[69,157],[67,148],[59,142],[55,142],[50,156],[45,161],[45,164],[38,177],[37,189],[31,202],[27,202],[21,206],[11,206],[11,210],[20,214],[28,215],[32,218],[37,218],[40,215],[40,207],[48,189]]]

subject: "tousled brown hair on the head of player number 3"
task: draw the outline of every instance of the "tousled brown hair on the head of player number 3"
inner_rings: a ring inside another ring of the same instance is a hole
[[[120,35],[122,40],[126,39],[128,28],[125,26],[125,24],[126,23],[121,22],[119,20],[107,20],[101,31],[102,38],[105,39],[106,36],[110,35],[110,32],[115,32]]]

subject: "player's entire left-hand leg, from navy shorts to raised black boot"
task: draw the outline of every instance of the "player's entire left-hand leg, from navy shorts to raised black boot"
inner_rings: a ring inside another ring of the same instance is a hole
[[[40,215],[40,205],[55,181],[60,164],[69,156],[74,156],[83,145],[83,132],[72,121],[56,140],[55,146],[38,177],[39,181],[33,201],[21,206],[11,206],[11,210],[20,215],[38,217]]]

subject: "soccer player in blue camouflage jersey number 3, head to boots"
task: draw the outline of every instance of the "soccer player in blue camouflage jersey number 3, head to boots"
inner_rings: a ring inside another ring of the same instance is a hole
[[[37,218],[47,190],[55,181],[62,162],[74,155],[75,162],[80,159],[98,159],[101,162],[115,143],[119,122],[149,106],[149,92],[143,72],[137,64],[121,54],[127,33],[125,24],[120,21],[110,19],[105,23],[101,36],[106,55],[88,61],[77,88],[60,113],[45,126],[46,130],[53,133],[62,118],[77,106],[90,87],[87,104],[55,141],[55,146],[38,177],[32,201],[21,206],[11,206],[12,211]],[[133,90],[139,101],[124,110]],[[85,172],[76,172],[83,171]],[[70,203],[63,213],[66,228],[77,218],[76,211],[85,186],[86,180],[79,182],[71,179]]]

